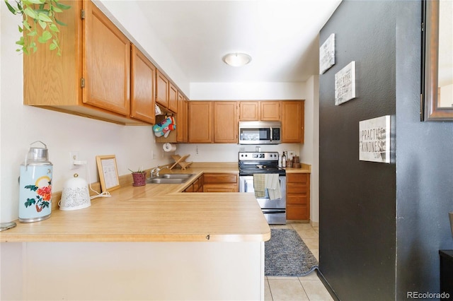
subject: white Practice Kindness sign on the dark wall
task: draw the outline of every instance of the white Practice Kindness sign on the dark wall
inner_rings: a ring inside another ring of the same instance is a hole
[[[359,122],[359,160],[390,163],[390,115]]]

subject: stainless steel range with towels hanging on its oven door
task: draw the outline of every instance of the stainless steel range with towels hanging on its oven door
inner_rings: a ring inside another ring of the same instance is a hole
[[[239,152],[239,192],[255,194],[269,224],[286,223],[286,172],[278,167],[278,160],[277,152]],[[278,177],[277,193],[263,175],[272,175],[269,179]],[[263,178],[264,182],[260,183]],[[255,184],[265,185],[264,193],[257,193]]]

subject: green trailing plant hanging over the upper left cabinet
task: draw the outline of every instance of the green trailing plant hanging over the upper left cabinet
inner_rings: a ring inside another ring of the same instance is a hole
[[[48,44],[50,50],[56,50],[57,55],[61,55],[58,25],[66,24],[59,21],[55,15],[71,6],[59,3],[59,0],[16,0],[15,4],[10,4],[8,0],[4,1],[11,13],[22,16],[22,25],[18,26],[22,35],[16,42],[19,46],[17,52],[35,53],[39,43]]]

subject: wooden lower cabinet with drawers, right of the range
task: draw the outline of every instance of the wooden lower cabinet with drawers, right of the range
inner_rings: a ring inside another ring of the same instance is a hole
[[[310,219],[310,174],[286,174],[287,220]]]

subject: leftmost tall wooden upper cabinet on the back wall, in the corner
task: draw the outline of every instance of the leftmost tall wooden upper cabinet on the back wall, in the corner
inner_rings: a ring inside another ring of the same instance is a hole
[[[212,102],[189,102],[188,129],[190,143],[212,143]]]

